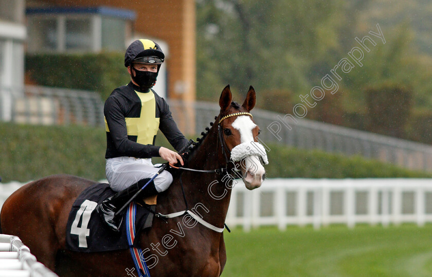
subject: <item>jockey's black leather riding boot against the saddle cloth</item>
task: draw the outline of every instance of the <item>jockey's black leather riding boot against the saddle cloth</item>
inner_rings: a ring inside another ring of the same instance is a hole
[[[137,183],[132,186],[123,189],[122,191],[117,192],[113,196],[109,197],[109,199],[103,201],[96,207],[97,212],[99,213],[102,221],[110,227],[113,231],[118,232],[120,230],[120,225],[123,221],[122,214],[116,216],[116,212],[123,207],[124,204],[131,199],[131,197],[137,193],[138,190],[142,188],[143,185],[149,182],[150,178],[139,180]],[[154,185],[154,182],[150,182],[137,196],[135,200],[142,199],[144,197],[148,197],[151,195],[156,195],[157,190]]]

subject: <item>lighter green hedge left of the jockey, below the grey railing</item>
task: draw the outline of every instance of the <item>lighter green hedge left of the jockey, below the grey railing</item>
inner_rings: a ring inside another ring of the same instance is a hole
[[[105,134],[81,126],[29,126],[0,123],[0,176],[3,182],[29,181],[67,173],[105,177]]]

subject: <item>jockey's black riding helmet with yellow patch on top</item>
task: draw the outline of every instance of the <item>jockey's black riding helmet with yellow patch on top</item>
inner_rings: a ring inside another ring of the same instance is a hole
[[[126,50],[124,66],[131,66],[132,63],[157,65],[157,71],[159,72],[164,59],[165,54],[157,43],[150,39],[138,39]]]

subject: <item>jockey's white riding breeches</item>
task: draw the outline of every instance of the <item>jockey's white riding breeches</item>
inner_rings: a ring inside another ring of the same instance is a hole
[[[141,179],[151,178],[157,171],[159,168],[153,166],[151,159],[135,159],[134,157],[106,159],[106,179],[114,191],[128,188]],[[164,170],[153,181],[156,190],[162,192],[171,185],[172,175]]]

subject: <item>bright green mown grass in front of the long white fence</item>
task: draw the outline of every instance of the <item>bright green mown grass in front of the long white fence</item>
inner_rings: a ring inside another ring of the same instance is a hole
[[[224,232],[222,276],[432,276],[432,225]]]

